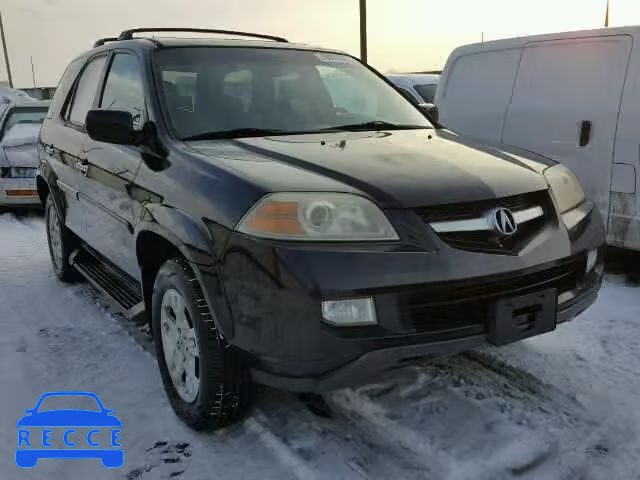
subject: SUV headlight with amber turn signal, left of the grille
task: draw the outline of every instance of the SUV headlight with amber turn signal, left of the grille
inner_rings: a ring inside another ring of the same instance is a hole
[[[272,193],[249,210],[236,230],[280,240],[399,239],[380,208],[348,193]]]

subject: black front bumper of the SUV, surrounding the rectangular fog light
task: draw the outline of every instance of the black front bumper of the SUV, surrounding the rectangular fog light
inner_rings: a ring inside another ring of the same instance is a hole
[[[585,274],[587,252],[604,242],[595,211],[571,235],[549,224],[518,255],[462,251],[428,235],[401,237],[401,244],[345,249],[232,234],[218,278],[203,279],[209,298],[224,290],[218,321],[246,354],[255,380],[297,391],[366,382],[399,362],[485,343],[497,300],[556,289],[562,323],[593,303],[601,284],[602,252]],[[322,300],[367,296],[374,298],[377,326],[322,321]]]

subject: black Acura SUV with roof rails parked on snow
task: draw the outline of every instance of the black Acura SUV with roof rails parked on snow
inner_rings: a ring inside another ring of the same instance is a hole
[[[187,424],[237,418],[252,381],[353,385],[595,300],[604,229],[562,165],[441,128],[345,53],[158,30],[69,65],[37,182],[56,275],[150,322]]]

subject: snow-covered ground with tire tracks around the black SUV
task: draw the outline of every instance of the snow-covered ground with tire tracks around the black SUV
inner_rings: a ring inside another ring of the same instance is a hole
[[[195,433],[173,415],[143,328],[58,282],[43,220],[0,215],[2,479],[638,479],[640,255],[556,332],[407,367],[326,405],[261,389],[252,415]],[[97,393],[125,464],[14,464],[16,421],[53,390]]]

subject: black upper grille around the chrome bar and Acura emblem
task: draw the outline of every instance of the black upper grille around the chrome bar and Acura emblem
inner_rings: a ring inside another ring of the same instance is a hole
[[[469,232],[439,232],[438,236],[449,246],[459,250],[502,255],[517,254],[553,216],[553,203],[547,190],[524,193],[511,197],[479,202],[452,203],[417,208],[415,212],[427,224],[432,222],[481,218],[491,210],[503,207],[516,212],[531,207],[542,207],[544,215],[518,226],[509,237],[501,237],[490,230]]]

